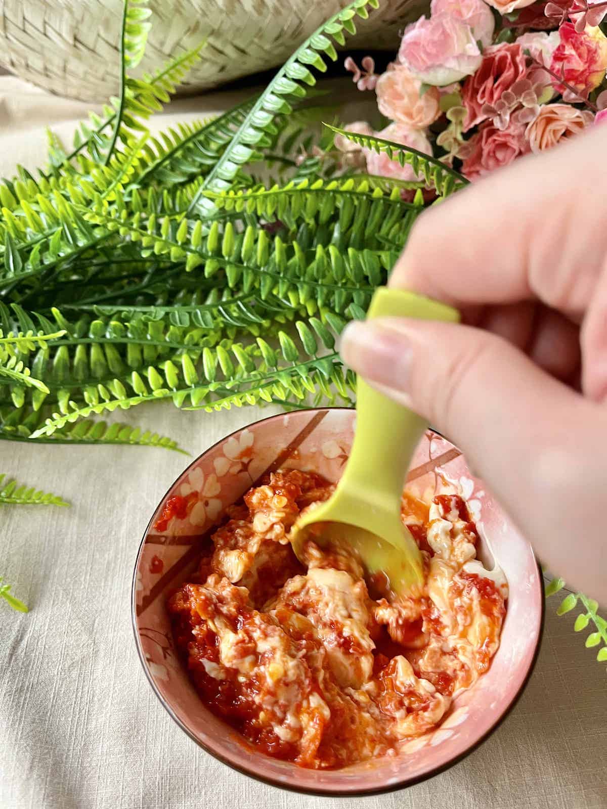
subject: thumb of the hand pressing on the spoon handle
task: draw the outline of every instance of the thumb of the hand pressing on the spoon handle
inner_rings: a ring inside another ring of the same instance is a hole
[[[461,447],[554,573],[567,571],[568,580],[597,591],[587,578],[596,549],[584,553],[578,544],[572,563],[571,543],[555,540],[579,537],[579,510],[590,518],[602,499],[588,477],[597,434],[607,434],[599,405],[502,338],[459,324],[355,321],[341,350],[354,371]],[[565,509],[571,498],[575,508]]]

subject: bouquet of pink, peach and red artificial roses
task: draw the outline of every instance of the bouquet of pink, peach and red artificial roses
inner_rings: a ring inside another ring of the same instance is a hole
[[[376,92],[384,127],[347,126],[345,162],[371,175],[415,182],[410,163],[368,147],[401,144],[478,180],[520,155],[538,153],[607,117],[607,2],[432,0],[431,14],[405,28],[397,58],[380,75],[370,57],[359,90]]]

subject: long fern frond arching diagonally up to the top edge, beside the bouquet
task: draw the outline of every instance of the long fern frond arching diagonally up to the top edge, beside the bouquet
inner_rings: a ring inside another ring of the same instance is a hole
[[[313,86],[316,83],[309,68],[313,67],[320,72],[325,72],[327,68],[324,57],[333,61],[337,59],[337,52],[331,40],[340,45],[344,44],[344,31],[356,32],[354,18],[358,15],[362,19],[366,19],[367,7],[376,8],[378,5],[378,0],[354,0],[304,41],[304,44],[278,70],[253,105],[230,143],[223,150],[223,154],[206,176],[204,188],[221,192],[230,187],[240,167],[244,163],[256,159],[257,150],[261,146],[267,145],[269,134],[275,133],[274,119],[276,116],[291,112],[292,107],[287,99],[303,98],[306,95],[304,85]],[[213,208],[212,202],[202,197],[201,192],[194,195],[189,205],[188,215],[197,210],[198,205],[206,214]]]

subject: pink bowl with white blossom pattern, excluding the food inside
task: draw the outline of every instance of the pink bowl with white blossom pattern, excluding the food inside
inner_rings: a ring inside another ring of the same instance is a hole
[[[432,494],[448,481],[468,501],[482,537],[479,557],[497,561],[510,594],[501,644],[490,670],[456,697],[444,722],[404,743],[398,756],[339,770],[303,769],[257,752],[206,709],[176,653],[166,599],[197,566],[202,545],[227,506],[278,468],[312,469],[330,481],[342,474],[352,439],[351,409],[299,410],[257,421],[223,438],[175,481],[143,536],[133,580],[133,625],[139,657],[152,688],[177,724],[224,764],[285,789],[322,795],[374,794],[423,781],[461,760],[495,730],[516,703],[537,658],[544,617],[543,581],[533,551],[482,484],[461,452],[428,431],[414,456],[407,485]],[[185,519],[155,523],[168,498],[197,493]],[[161,526],[162,527],[162,526]]]

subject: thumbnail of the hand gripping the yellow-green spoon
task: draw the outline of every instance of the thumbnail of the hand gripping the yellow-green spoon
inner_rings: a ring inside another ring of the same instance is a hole
[[[346,365],[384,392],[385,388],[399,394],[408,391],[411,345],[402,332],[372,320],[353,320],[342,332],[339,350]]]

